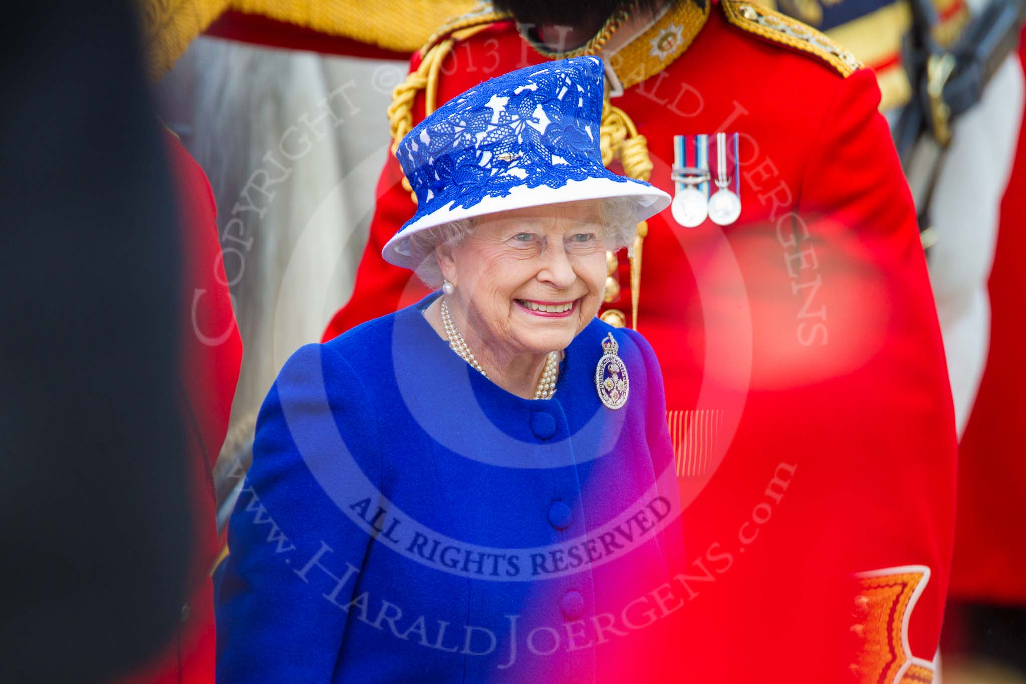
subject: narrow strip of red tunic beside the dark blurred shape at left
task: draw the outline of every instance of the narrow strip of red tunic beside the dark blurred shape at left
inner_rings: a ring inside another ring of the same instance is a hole
[[[218,238],[216,204],[203,169],[177,138],[165,135],[168,161],[177,182],[182,225],[182,392],[192,479],[195,558],[189,600],[174,637],[151,662],[121,684],[213,684],[213,585],[210,569],[220,544],[212,467],[228,432],[242,362],[242,338],[235,323]],[[149,542],[159,542],[149,540]],[[131,546],[140,544],[126,539]]]

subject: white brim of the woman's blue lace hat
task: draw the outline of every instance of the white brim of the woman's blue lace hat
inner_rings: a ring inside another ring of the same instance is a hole
[[[449,202],[447,205],[421,216],[416,222],[407,224],[401,231],[392,236],[392,239],[382,248],[382,257],[389,264],[413,270],[421,265],[421,261],[427,255],[410,253],[409,236],[415,233],[444,226],[455,220],[483,216],[501,211],[544,206],[546,204],[563,204],[582,200],[605,200],[613,198],[633,198],[635,200],[633,203],[628,204],[628,206],[635,209],[635,224],[656,215],[670,206],[671,201],[670,196],[659,188],[645,183],[639,183],[632,178],[626,178],[626,182],[618,182],[601,176],[589,176],[582,180],[567,180],[560,188],[550,188],[549,186],[539,186],[538,188],[515,186],[510,189],[509,194],[505,197],[485,197],[469,208],[452,206],[455,202]]]

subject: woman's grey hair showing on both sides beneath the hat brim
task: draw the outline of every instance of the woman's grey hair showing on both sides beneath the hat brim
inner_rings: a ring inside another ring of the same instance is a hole
[[[633,198],[614,197],[602,200],[602,242],[607,251],[617,252],[630,247],[637,234],[637,202]],[[413,233],[407,238],[411,254],[420,255],[421,265],[415,269],[417,277],[433,290],[441,287],[444,277],[435,247],[458,247],[474,232],[473,218],[461,218],[435,228]]]

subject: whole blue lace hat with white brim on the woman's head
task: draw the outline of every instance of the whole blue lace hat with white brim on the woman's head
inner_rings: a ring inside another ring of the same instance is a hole
[[[602,164],[602,62],[574,57],[484,81],[435,110],[400,140],[396,157],[417,213],[382,250],[416,269],[409,236],[453,220],[522,207],[620,198],[635,224],[670,196]]]

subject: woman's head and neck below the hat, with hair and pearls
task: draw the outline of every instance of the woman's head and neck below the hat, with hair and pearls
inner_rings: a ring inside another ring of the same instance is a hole
[[[417,274],[445,293],[425,316],[499,387],[520,397],[550,398],[561,351],[598,312],[605,252],[624,247],[633,226],[616,200],[582,200],[416,234],[410,249],[431,255]]]

